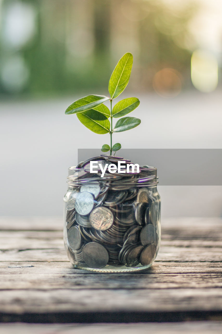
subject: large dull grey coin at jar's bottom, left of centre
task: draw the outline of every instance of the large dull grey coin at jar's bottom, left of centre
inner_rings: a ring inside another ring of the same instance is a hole
[[[105,247],[97,242],[87,243],[82,250],[85,263],[92,268],[105,267],[109,261],[109,255]]]

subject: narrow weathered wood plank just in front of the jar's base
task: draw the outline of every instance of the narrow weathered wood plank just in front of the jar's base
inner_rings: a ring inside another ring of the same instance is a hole
[[[75,274],[36,273],[29,268],[24,273],[9,271],[0,277],[0,290],[6,289],[198,289],[221,288],[222,273],[216,274]]]

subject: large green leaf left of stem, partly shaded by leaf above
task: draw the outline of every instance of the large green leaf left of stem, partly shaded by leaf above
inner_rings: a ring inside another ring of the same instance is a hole
[[[100,112],[90,109],[77,114],[80,122],[89,130],[98,134],[109,132],[110,122],[108,118]]]

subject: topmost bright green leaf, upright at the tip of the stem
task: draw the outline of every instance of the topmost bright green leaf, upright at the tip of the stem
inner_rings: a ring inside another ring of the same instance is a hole
[[[115,99],[126,88],[133,65],[133,56],[127,52],[122,56],[116,65],[110,80],[109,80],[109,94],[111,99]]]

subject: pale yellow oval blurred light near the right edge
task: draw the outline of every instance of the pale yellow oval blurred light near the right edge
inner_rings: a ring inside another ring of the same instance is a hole
[[[191,80],[196,89],[209,93],[218,83],[218,63],[209,51],[196,50],[191,57]]]

